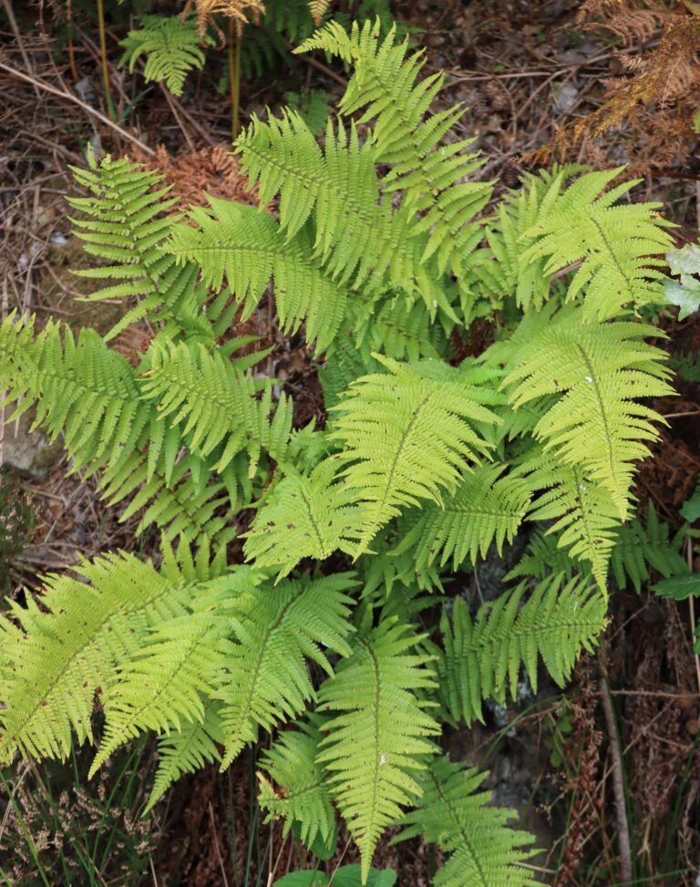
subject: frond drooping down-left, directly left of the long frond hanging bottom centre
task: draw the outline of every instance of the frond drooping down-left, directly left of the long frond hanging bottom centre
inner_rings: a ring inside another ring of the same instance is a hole
[[[237,643],[225,660],[221,699],[227,768],[258,727],[273,726],[300,715],[315,699],[307,659],[328,675],[333,670],[325,649],[348,656],[346,638],[353,588],[351,573],[335,573],[312,582],[284,580],[273,590],[242,595],[232,602]],[[223,663],[221,664],[223,668]]]

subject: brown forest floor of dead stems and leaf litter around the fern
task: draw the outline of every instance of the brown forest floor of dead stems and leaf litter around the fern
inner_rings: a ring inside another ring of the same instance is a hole
[[[123,29],[108,28],[111,80],[122,121],[115,125],[105,116],[96,34],[78,27],[76,82],[66,46],[57,37],[53,6],[46,4],[41,19],[35,5],[15,3],[20,39],[6,16],[0,17],[2,311],[6,315],[18,308],[46,321],[67,320],[74,326],[89,321],[107,329],[119,306],[77,302],[89,290],[69,271],[85,262],[67,216],[65,197],[76,191],[69,166],[84,164],[88,144],[98,153],[130,151],[140,160],[159,162],[175,193],[187,199],[199,199],[202,190],[249,198],[225,152],[231,143],[230,108],[209,69],[191,78],[179,99],[164,89],[143,90],[142,81],[116,66]],[[487,157],[483,175],[498,178],[499,188],[514,187],[531,168],[523,155],[599,108],[603,81],[620,74],[617,46],[602,31],[582,28],[576,19],[579,6],[572,0],[408,0],[394,5],[396,18],[411,26],[415,43],[426,47],[426,70],[446,74],[438,108],[456,102],[468,107],[456,138],[476,137],[475,147]],[[653,46],[654,40],[658,35],[649,35],[646,45]],[[303,88],[324,90],[332,103],[345,81],[345,72],[328,67],[322,58],[295,57],[293,67],[243,84],[242,122],[268,106],[276,112],[285,94]],[[678,226],[678,242],[695,240],[700,162],[690,153],[690,160],[668,160],[659,169],[651,162],[658,138],[657,133],[654,148],[654,139],[633,143],[629,131],[613,129],[601,139],[583,139],[567,159],[598,168],[631,162],[641,176],[633,199],[662,201],[666,217]],[[153,160],[159,145],[167,153]],[[169,159],[176,155],[179,160]],[[277,342],[276,375],[293,391],[296,420],[303,424],[321,402],[309,357],[296,340],[283,339],[270,319],[256,318],[246,331]],[[664,326],[672,355],[697,354],[700,321],[680,325],[669,315]],[[133,342],[121,346],[126,353],[135,347]],[[700,376],[676,381],[680,397],[655,405],[668,425],[654,444],[653,459],[643,465],[636,490],[643,513],[653,505],[672,531],[683,524],[679,508],[700,471]],[[104,510],[96,481],[81,478],[80,472],[67,475],[60,448],[29,434],[28,424],[24,419],[8,424],[0,438],[5,488],[31,515],[26,538],[8,566],[5,591],[10,593],[21,583],[35,586],[39,573],[75,564],[78,555],[133,548],[138,522],[118,523]],[[148,552],[155,541],[154,535],[141,539],[139,551]],[[511,553],[511,560],[516,555]],[[506,571],[502,563],[488,562],[479,572],[479,589],[471,593],[488,595],[489,585],[495,587]],[[535,696],[525,687],[511,707],[490,710],[485,725],[451,737],[459,758],[491,770],[487,786],[496,799],[519,810],[525,826],[535,832],[544,851],[532,865],[543,882],[554,883],[560,872],[559,887],[617,883],[619,810],[613,800],[611,747],[619,744],[626,815],[641,872],[635,883],[696,883],[700,667],[692,651],[694,618],[687,603],[627,589],[616,595],[603,660],[584,657],[566,696],[546,683]],[[602,676],[602,661],[607,676]],[[606,707],[612,718],[606,717]],[[205,768],[183,780],[152,818],[136,820],[134,811],[143,802],[139,785],[146,781],[153,755],[148,744],[129,748],[95,784],[84,779],[88,758],[80,754],[73,762],[75,779],[52,767],[6,770],[5,789],[12,787],[24,816],[10,816],[6,801],[0,861],[15,872],[15,883],[39,883],[31,880],[35,860],[21,821],[38,832],[44,828],[45,841],[50,833],[51,846],[39,847],[47,848],[46,866],[61,872],[68,860],[76,884],[93,883],[80,874],[77,858],[77,847],[88,842],[105,865],[106,874],[96,884],[264,885],[269,872],[279,876],[304,862],[298,842],[283,838],[279,827],[260,823],[252,762],[245,757],[223,777],[216,768]],[[4,807],[0,788],[0,817]],[[106,821],[111,837],[101,841],[98,834]],[[339,846],[344,848],[345,841]],[[355,861],[354,851],[345,848],[344,853],[345,862]],[[402,845],[400,851],[385,842],[376,862],[396,867],[399,884],[412,887],[430,882],[435,863],[419,842]],[[63,883],[59,874],[54,877],[51,883]]]

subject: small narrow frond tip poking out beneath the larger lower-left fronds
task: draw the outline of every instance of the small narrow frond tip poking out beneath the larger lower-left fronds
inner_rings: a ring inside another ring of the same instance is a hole
[[[183,773],[196,773],[204,764],[221,760],[218,748],[221,745],[221,718],[215,703],[207,705],[201,721],[185,721],[177,733],[160,737],[158,769],[149,801],[143,810],[144,816],[153,810]]]

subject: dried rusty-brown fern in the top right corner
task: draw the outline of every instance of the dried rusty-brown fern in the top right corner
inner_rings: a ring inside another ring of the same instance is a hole
[[[697,141],[693,124],[700,110],[700,15],[674,14],[662,3],[643,0],[587,0],[579,17],[583,23],[591,16],[602,21],[584,27],[605,28],[628,49],[660,35],[658,45],[637,55],[615,53],[626,73],[603,81],[607,91],[600,108],[561,127],[527,160],[564,160],[584,139],[624,128],[633,149],[633,170],[664,169],[685,157]]]

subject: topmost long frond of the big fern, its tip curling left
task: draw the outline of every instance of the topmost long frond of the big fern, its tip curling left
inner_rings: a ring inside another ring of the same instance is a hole
[[[392,164],[383,180],[385,190],[401,191],[406,208],[419,214],[412,233],[430,232],[423,258],[436,253],[440,273],[446,267],[459,273],[461,257],[481,238],[471,222],[489,201],[492,183],[465,180],[484,163],[477,153],[463,153],[474,139],[439,147],[464,108],[456,105],[423,122],[443,85],[443,74],[417,83],[422,54],[407,58],[408,41],[394,45],[396,27],[382,42],[380,30],[378,19],[362,29],[354,22],[350,35],[338,22],[330,22],[295,51],[324,49],[353,63],[341,113],[351,115],[364,108],[359,122],[374,121],[376,160]]]

